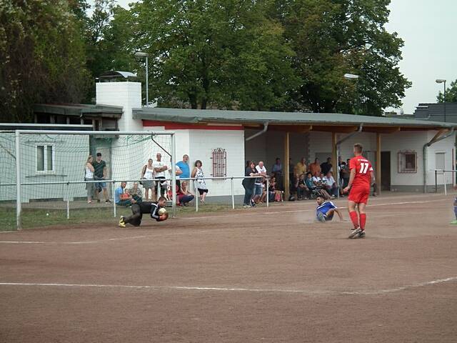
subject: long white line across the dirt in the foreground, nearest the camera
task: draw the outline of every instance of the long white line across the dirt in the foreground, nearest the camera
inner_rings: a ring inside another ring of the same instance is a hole
[[[378,295],[400,292],[406,289],[442,284],[444,282],[455,282],[457,277],[436,279],[428,282],[419,282],[403,287],[391,289],[375,289],[361,292],[333,292],[325,290],[312,291],[310,289],[268,289],[268,288],[238,288],[238,287],[191,287],[191,286],[150,286],[150,285],[129,285],[129,284],[59,284],[59,283],[32,283],[32,282],[0,282],[0,286],[36,286],[36,287],[79,287],[79,288],[121,288],[121,289],[171,289],[189,291],[219,291],[219,292],[264,292],[264,293],[300,293],[300,294],[341,294],[341,295]]]

